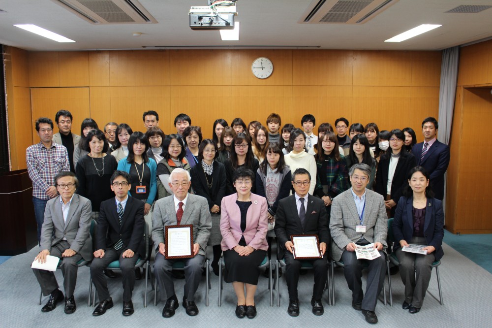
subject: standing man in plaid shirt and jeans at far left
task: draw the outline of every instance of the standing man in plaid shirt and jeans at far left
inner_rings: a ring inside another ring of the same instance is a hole
[[[40,242],[46,203],[58,193],[54,186],[55,176],[62,171],[70,171],[70,164],[66,148],[53,142],[52,120],[47,117],[38,118],[36,133],[41,140],[26,150],[26,163],[32,181],[32,203],[37,224],[37,241]]]

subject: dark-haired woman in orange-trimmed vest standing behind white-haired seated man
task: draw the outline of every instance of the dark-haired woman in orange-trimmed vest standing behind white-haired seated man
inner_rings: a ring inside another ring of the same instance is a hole
[[[178,134],[168,134],[162,142],[162,160],[157,164],[157,199],[173,195],[169,187],[169,175],[180,167],[190,171],[191,167],[186,161],[183,139]]]

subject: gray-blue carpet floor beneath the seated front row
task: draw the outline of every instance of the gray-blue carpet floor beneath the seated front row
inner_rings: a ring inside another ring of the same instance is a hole
[[[400,275],[392,277],[393,307],[379,302],[376,314],[378,327],[491,327],[492,322],[492,274],[459,252],[444,244],[444,258],[440,266],[444,305],[440,305],[431,295],[424,300],[422,310],[409,314],[401,309],[403,302],[403,284]],[[351,293],[343,277],[343,269],[335,269],[336,306],[328,306],[328,294],[325,292],[323,303],[325,314],[316,317],[311,313],[309,300],[312,295],[312,273],[302,275],[299,283],[301,314],[292,318],[287,314],[288,293],[285,279],[280,278],[280,307],[274,298],[274,307],[270,307],[268,279],[260,277],[256,295],[258,315],[255,319],[238,319],[234,315],[236,298],[231,284],[224,284],[222,306],[217,306],[218,277],[211,273],[212,290],[210,304],[205,306],[205,277],[196,295],[200,313],[189,317],[181,306],[184,280],[175,282],[180,307],[170,319],[161,316],[163,302],[154,307],[154,292],[148,288],[148,307],[143,307],[144,280],[137,281],[133,293],[135,313],[123,317],[121,278],[108,279],[109,288],[115,306],[101,317],[93,317],[93,308],[87,307],[89,268],[79,268],[75,289],[77,311],[72,315],[63,313],[63,304],[52,312],[42,313],[41,307],[48,297],[43,297],[38,305],[40,289],[30,268],[37,248],[30,252],[12,257],[0,265],[0,327],[369,327],[361,312],[351,307]],[[62,285],[60,270],[56,273]],[[387,282],[387,280],[386,280]],[[438,296],[435,271],[432,272],[429,291]]]

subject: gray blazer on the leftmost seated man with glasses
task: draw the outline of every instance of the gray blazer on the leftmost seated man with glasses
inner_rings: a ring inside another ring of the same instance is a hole
[[[82,255],[84,260],[91,261],[93,258],[92,237],[90,234],[92,221],[91,201],[73,194],[65,223],[63,222],[60,197],[52,198],[46,204],[43,227],[41,228],[41,250],[51,250],[51,246],[65,237],[70,244],[70,249]]]

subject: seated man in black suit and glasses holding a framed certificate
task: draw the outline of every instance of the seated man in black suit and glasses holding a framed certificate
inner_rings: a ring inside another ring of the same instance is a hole
[[[299,315],[297,284],[302,263],[294,259],[294,245],[290,241],[290,236],[293,234],[318,235],[319,250],[323,258],[303,261],[310,261],[314,268],[314,286],[311,298],[312,313],[320,316],[324,312],[321,297],[328,278],[328,253],[326,252],[327,245],[330,244],[328,213],[326,213],[323,200],[308,194],[310,183],[311,175],[307,169],[298,168],[294,171],[292,174],[292,186],[295,194],[278,202],[275,220],[275,234],[280,247],[278,258],[284,258],[287,264],[285,270],[285,279],[289,290],[287,313],[293,317]]]

